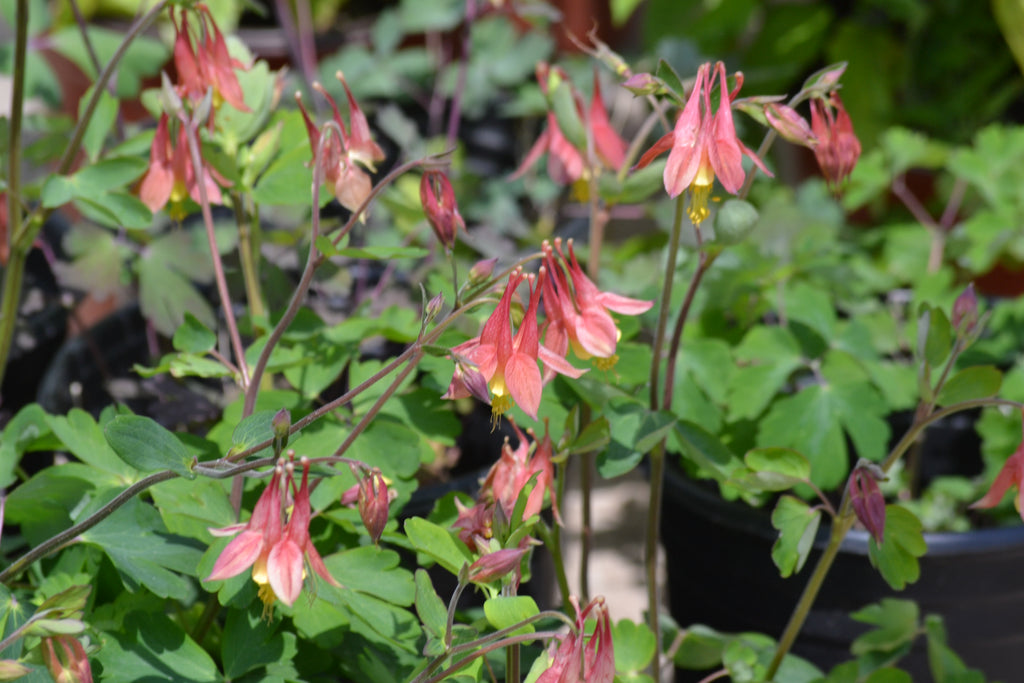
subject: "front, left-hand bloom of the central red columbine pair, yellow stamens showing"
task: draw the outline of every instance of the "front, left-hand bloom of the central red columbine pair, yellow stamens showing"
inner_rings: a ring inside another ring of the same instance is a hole
[[[508,286],[501,301],[483,324],[479,337],[459,344],[452,349],[453,353],[462,356],[476,366],[476,371],[486,381],[490,390],[490,407],[495,417],[501,416],[512,408],[513,401],[519,404],[523,412],[537,419],[537,409],[541,404],[541,371],[538,360],[547,368],[567,377],[580,377],[586,371],[578,370],[565,359],[548,348],[541,346],[537,323],[537,309],[541,298],[541,287],[546,276],[544,268],[535,283],[534,278],[516,270],[509,275]],[[529,305],[523,315],[522,323],[512,335],[512,294],[524,280],[530,284]],[[452,377],[444,398],[463,398],[472,395],[465,381],[465,370],[457,368]]]

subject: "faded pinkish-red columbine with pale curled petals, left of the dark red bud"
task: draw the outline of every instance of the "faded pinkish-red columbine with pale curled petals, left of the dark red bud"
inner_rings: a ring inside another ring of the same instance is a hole
[[[338,72],[336,76],[341,81],[345,88],[345,95],[348,97],[348,120],[351,132],[345,127],[334,97],[328,94],[319,83],[313,83],[313,88],[324,95],[328,103],[331,104],[334,112],[334,122],[338,126],[337,132],[340,137],[340,139],[334,135],[329,137],[324,156],[321,159],[321,171],[324,174],[324,179],[334,186],[334,196],[338,203],[349,211],[356,211],[373,190],[373,182],[364,169],[376,171],[376,163],[384,161],[384,152],[374,141],[367,116],[359,109],[355,97],[352,96],[352,91],[349,90],[344,76],[341,72]],[[306,132],[309,135],[309,146],[312,148],[315,162],[321,132],[302,104],[300,93],[295,93],[295,100],[299,103],[299,110],[302,112],[302,119],[305,121]]]

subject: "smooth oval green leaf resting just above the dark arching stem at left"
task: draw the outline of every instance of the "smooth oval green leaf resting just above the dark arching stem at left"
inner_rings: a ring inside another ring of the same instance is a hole
[[[156,421],[140,415],[119,415],[103,429],[106,441],[123,461],[140,472],[171,470],[196,478],[193,455]]]

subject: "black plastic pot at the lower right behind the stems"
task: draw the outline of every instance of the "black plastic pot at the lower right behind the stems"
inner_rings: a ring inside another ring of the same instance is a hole
[[[781,579],[771,560],[776,531],[765,510],[724,501],[715,490],[667,468],[662,540],[670,608],[683,626],[781,635],[827,542],[819,530],[807,564]],[[927,533],[921,579],[894,591],[870,566],[868,535],[854,529],[815,602],[795,653],[824,671],[853,658],[850,643],[867,630],[849,613],[882,598],[915,600],[922,614],[945,618],[949,645],[990,679],[1020,679],[1024,651],[1024,526]],[[899,664],[916,681],[932,680],[923,639]],[[687,676],[681,677],[691,680]],[[698,680],[700,676],[692,680]]]

